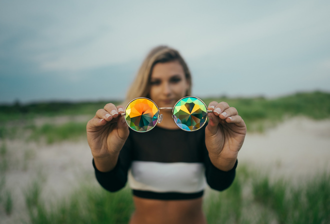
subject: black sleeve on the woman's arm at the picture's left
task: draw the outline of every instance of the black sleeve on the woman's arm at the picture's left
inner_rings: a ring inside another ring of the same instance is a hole
[[[114,192],[125,186],[127,182],[127,171],[131,163],[131,145],[131,139],[128,136],[124,146],[120,150],[117,164],[108,172],[99,171],[95,166],[94,159],[92,160],[96,179],[104,189]]]

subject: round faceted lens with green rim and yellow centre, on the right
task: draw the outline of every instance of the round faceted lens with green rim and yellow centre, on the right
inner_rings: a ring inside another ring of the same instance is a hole
[[[206,122],[206,105],[197,97],[184,97],[175,104],[173,108],[173,119],[176,125],[183,130],[197,130]]]

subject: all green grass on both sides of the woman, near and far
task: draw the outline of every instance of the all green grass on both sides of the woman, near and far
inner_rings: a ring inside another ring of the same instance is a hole
[[[330,93],[305,92],[267,99],[254,98],[203,98],[226,101],[237,108],[248,131],[264,131],[294,116],[312,119],[330,118]],[[20,139],[45,144],[74,141],[85,137],[85,121],[74,119],[56,123],[51,118],[59,116],[92,117],[106,102],[43,102],[21,105],[0,105],[0,209],[10,215],[13,209],[12,192],[5,187],[10,160],[6,139]],[[116,102],[118,103],[118,102]],[[37,124],[38,118],[46,122]],[[31,157],[25,151],[24,159]],[[26,160],[25,159],[25,160]],[[26,160],[26,162],[28,162]],[[271,180],[269,175],[256,172],[240,164],[237,177],[223,192],[209,190],[203,209],[208,223],[330,223],[330,174],[320,173],[299,184],[290,180]],[[79,189],[65,198],[49,202],[40,197],[43,180],[38,178],[24,186],[23,194],[28,210],[27,223],[127,223],[133,210],[132,198],[127,188],[109,193],[99,187],[81,183]]]

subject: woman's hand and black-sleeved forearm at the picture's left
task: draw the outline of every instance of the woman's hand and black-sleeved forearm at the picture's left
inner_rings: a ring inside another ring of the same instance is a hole
[[[97,110],[95,116],[86,125],[87,141],[93,155],[96,178],[109,190],[115,190],[125,183],[119,153],[126,142],[129,130],[124,123],[124,117],[119,115],[123,111],[122,106],[116,107],[108,103],[103,109]],[[118,180],[118,185],[114,188],[107,183],[112,179]]]

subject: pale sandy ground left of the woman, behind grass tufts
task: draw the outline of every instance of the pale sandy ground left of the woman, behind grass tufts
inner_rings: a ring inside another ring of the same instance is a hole
[[[65,198],[81,183],[97,184],[91,164],[91,153],[85,140],[38,145],[7,141],[9,167],[5,172],[5,188],[13,199],[8,216],[0,205],[0,223],[23,223],[27,219],[24,192],[34,181],[42,186],[41,198],[48,202]],[[24,154],[32,154],[24,162]],[[26,222],[25,222],[26,223]]]

